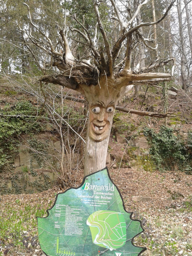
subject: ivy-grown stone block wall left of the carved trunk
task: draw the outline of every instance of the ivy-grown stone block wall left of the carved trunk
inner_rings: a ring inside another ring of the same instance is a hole
[[[57,180],[54,170],[59,169],[61,159],[59,138],[43,132],[32,139],[23,135],[21,141],[13,168],[0,173],[1,194],[41,192]]]

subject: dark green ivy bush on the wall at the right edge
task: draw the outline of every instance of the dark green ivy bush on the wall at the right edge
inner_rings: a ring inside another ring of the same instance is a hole
[[[173,135],[173,129],[162,126],[156,133],[146,128],[144,135],[151,143],[150,154],[159,170],[173,169],[175,165],[179,170],[192,174],[192,134],[184,141],[180,136]]]

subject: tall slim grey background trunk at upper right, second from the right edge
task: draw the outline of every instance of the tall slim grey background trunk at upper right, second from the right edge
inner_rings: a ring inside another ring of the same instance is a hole
[[[187,59],[186,59],[186,47],[183,33],[183,24],[181,16],[181,5],[180,0],[177,0],[177,12],[179,21],[179,34],[180,34],[180,55],[181,55],[181,79],[182,79],[182,89],[186,91],[187,89]]]

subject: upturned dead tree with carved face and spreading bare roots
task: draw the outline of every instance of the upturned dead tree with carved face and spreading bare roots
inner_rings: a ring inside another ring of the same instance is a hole
[[[62,22],[55,20],[52,31],[41,20],[36,23],[31,17],[30,7],[24,4],[28,9],[30,26],[26,22],[18,22],[23,40],[21,48],[31,54],[42,74],[39,81],[75,90],[88,101],[84,175],[105,167],[118,101],[133,85],[152,85],[171,80],[175,66],[172,57],[157,58],[144,66],[144,52],[139,53],[139,58],[135,56],[141,50],[141,44],[150,50],[157,50],[157,47],[149,45],[151,39],[149,35],[144,35],[142,28],[160,23],[175,1],[171,1],[157,21],[142,22],[139,14],[148,0],[138,2],[136,8],[124,4],[117,6],[114,0],[96,0],[93,1],[95,24],[88,25],[84,15],[79,17],[74,13],[65,15],[61,18]],[[114,34],[110,30],[110,23],[103,22],[103,8],[108,9],[108,19],[115,19]],[[54,17],[52,19],[54,21]],[[162,67],[171,63],[170,74],[160,72]]]

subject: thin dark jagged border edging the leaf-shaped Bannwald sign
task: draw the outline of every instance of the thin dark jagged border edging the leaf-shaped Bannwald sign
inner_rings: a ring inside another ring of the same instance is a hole
[[[132,245],[133,245],[134,247],[137,247],[137,248],[143,248],[143,250],[142,250],[142,251],[140,251],[140,253],[137,255],[137,256],[139,256],[142,252],[146,251],[146,250],[147,250],[147,248],[146,248],[146,247],[135,246],[135,245],[133,244],[133,239],[134,239],[136,236],[138,236],[139,234],[141,234],[141,233],[142,233],[143,231],[145,231],[145,230],[143,229],[143,227],[142,227],[142,222],[141,222],[140,220],[132,219],[133,212],[128,212],[128,211],[126,210],[126,208],[125,208],[125,204],[124,204],[124,201],[123,201],[123,197],[122,197],[122,195],[121,195],[121,192],[119,191],[119,188],[117,187],[117,185],[112,181],[112,179],[111,179],[111,176],[110,176],[110,174],[109,174],[109,170],[108,170],[107,166],[106,166],[105,168],[103,168],[103,169],[101,169],[101,170],[97,171],[97,172],[94,172],[94,173],[91,173],[91,174],[89,174],[89,175],[86,175],[86,176],[83,178],[83,181],[82,181],[82,183],[81,183],[81,185],[80,185],[79,187],[77,187],[77,188],[72,187],[72,188],[73,188],[73,189],[81,188],[81,186],[83,185],[83,183],[85,182],[85,180],[86,180],[86,178],[87,178],[87,177],[89,177],[89,176],[91,176],[91,175],[93,175],[93,174],[95,174],[95,173],[98,173],[98,172],[104,171],[104,170],[107,170],[107,173],[108,173],[108,176],[109,176],[110,181],[112,182],[112,184],[114,184],[114,185],[115,185],[115,187],[117,188],[117,191],[119,192],[119,195],[120,195],[121,200],[122,200],[122,203],[123,203],[124,211],[125,211],[125,212],[127,212],[127,213],[130,213],[130,219],[131,219],[132,221],[139,221],[139,222],[140,222],[140,225],[141,225],[142,231],[141,231],[141,232],[139,232],[137,235],[135,235],[135,236],[132,238],[132,240],[131,240],[131,243],[132,243]],[[46,210],[46,212],[47,212],[47,216],[46,216],[46,217],[37,217],[37,228],[38,228],[38,218],[42,218],[42,219],[43,219],[43,218],[47,218],[47,217],[49,216],[49,211],[50,211],[50,210],[55,206],[58,195],[60,195],[60,194],[64,194],[66,191],[68,191],[68,190],[70,190],[70,189],[72,189],[72,188],[68,188],[68,189],[66,189],[64,192],[58,193],[58,194],[56,195],[55,202],[54,202],[53,206],[52,206],[50,209],[47,209],[47,210]],[[38,234],[38,237],[39,237],[39,234]],[[42,250],[42,249],[41,249],[41,250]],[[42,251],[43,251],[43,250],[42,250]],[[43,253],[44,253],[46,256],[50,256],[50,255],[46,254],[44,251],[43,251]]]

